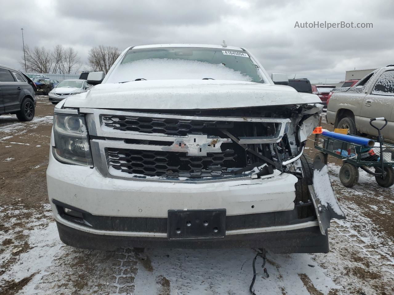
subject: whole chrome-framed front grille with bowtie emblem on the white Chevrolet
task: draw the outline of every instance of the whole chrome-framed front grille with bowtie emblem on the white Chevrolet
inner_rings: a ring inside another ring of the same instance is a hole
[[[230,177],[248,165],[272,164],[270,144],[281,140],[290,119],[246,113],[212,117],[92,109],[87,122],[93,161],[106,177],[178,181]],[[281,151],[288,153],[284,144]]]

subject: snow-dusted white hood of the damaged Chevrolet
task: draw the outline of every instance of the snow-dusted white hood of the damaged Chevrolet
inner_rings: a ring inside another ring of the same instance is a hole
[[[321,103],[284,85],[227,80],[148,80],[105,83],[67,98],[63,107],[97,109],[232,109]]]

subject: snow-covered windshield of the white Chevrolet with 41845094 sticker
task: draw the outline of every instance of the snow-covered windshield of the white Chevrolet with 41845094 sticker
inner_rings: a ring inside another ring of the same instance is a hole
[[[249,55],[243,50],[219,48],[144,48],[129,50],[107,83],[135,79],[204,79],[264,83]]]

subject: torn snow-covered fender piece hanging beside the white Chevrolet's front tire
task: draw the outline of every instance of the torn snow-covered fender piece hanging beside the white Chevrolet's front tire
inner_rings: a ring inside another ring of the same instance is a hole
[[[316,210],[320,231],[326,235],[332,218],[346,219],[346,217],[331,186],[327,165],[321,161],[314,161],[313,170],[313,185],[309,185],[309,193]]]

